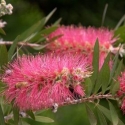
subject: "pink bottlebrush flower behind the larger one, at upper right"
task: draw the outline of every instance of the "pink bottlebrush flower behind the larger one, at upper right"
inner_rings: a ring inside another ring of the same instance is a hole
[[[62,51],[69,49],[70,51],[82,51],[89,55],[92,61],[93,48],[96,40],[99,41],[100,49],[100,67],[103,65],[107,53],[112,49],[112,43],[117,38],[113,38],[114,33],[107,28],[94,27],[76,27],[76,26],[60,26],[56,31],[48,35],[47,40],[51,41],[54,37],[60,36],[49,44],[48,49]]]

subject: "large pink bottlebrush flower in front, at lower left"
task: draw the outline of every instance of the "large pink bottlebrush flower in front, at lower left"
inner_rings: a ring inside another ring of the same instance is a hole
[[[21,110],[63,105],[85,96],[82,83],[91,73],[88,58],[80,53],[22,56],[6,67],[5,97]]]

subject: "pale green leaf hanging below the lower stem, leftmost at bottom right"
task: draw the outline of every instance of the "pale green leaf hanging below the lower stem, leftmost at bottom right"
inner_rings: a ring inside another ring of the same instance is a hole
[[[95,117],[95,114],[87,104],[86,104],[86,111],[87,111],[87,114],[88,114],[90,124],[91,125],[97,125],[97,119]]]

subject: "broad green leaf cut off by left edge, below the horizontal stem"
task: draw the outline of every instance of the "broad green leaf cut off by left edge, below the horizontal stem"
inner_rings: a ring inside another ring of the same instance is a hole
[[[0,46],[0,66],[8,62],[8,53],[5,45]]]

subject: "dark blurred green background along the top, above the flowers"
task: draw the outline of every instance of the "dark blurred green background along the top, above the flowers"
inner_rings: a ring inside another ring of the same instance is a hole
[[[5,27],[6,40],[13,40],[41,17],[47,15],[54,8],[55,14],[48,25],[62,18],[64,25],[83,25],[100,27],[105,5],[108,4],[104,26],[114,28],[125,14],[124,0],[6,0],[12,3],[14,11],[11,16],[4,16],[8,24]]]

